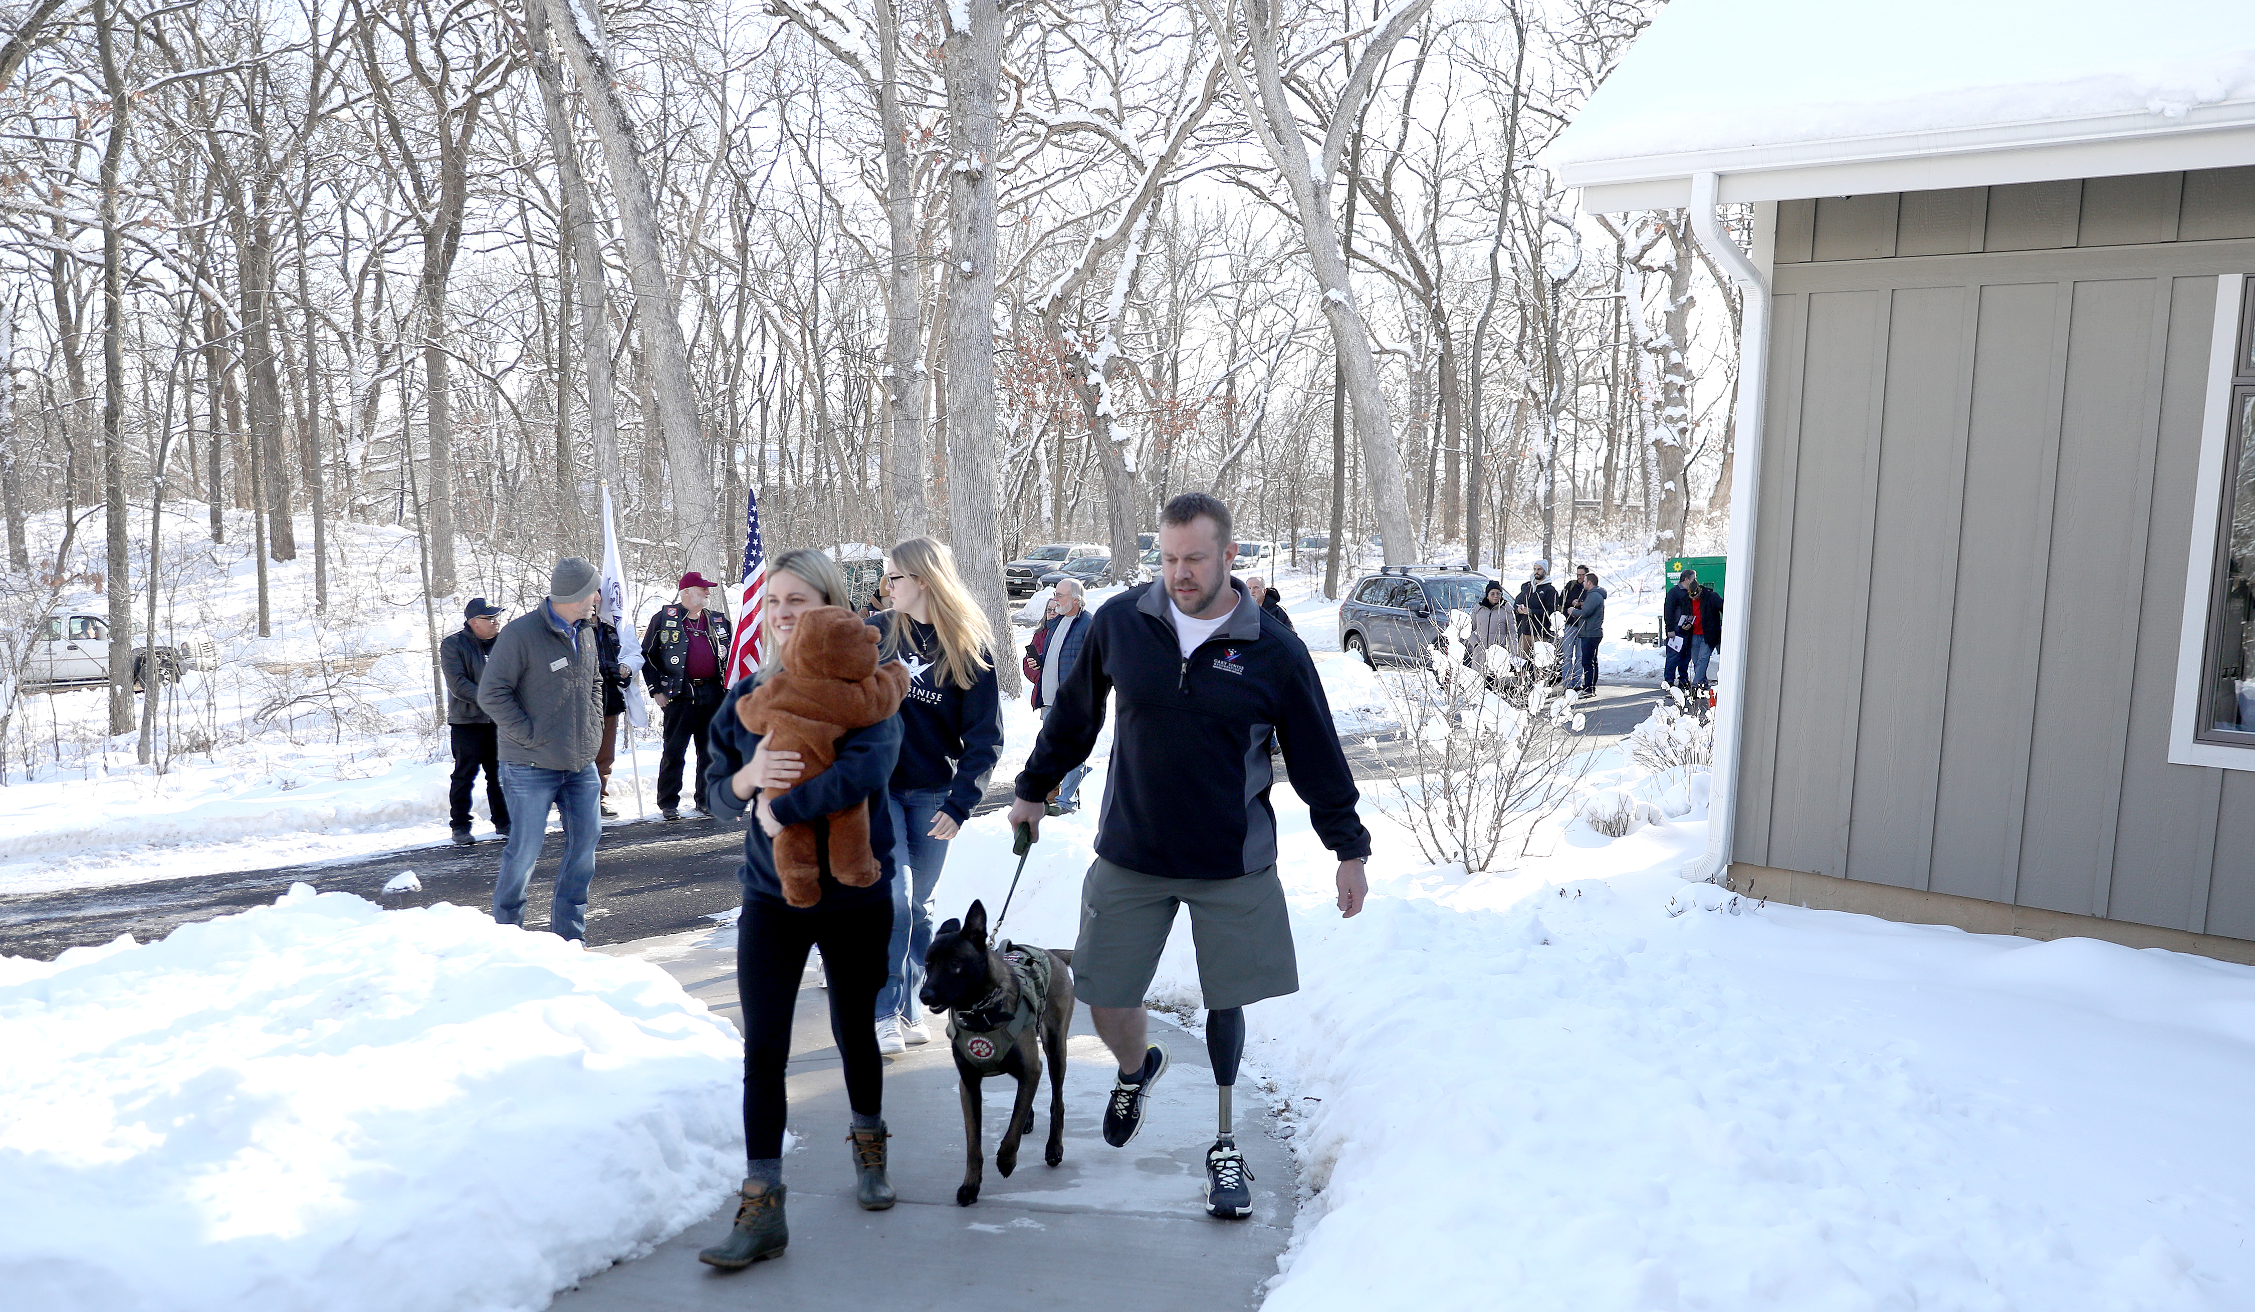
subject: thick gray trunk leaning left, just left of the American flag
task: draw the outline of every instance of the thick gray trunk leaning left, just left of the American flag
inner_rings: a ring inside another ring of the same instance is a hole
[[[697,422],[697,383],[690,376],[690,352],[681,338],[681,313],[674,286],[665,277],[665,252],[658,246],[658,212],[652,198],[649,171],[643,167],[643,144],[627,106],[611,81],[604,52],[595,45],[602,29],[593,7],[571,0],[543,0],[548,20],[580,79],[580,99],[595,122],[602,158],[611,171],[611,196],[618,203],[618,228],[627,246],[627,277],[640,307],[645,370],[665,433],[665,460],[672,467],[672,525],[681,568],[719,568],[719,500],[706,487],[706,449]],[[584,18],[577,23],[575,18]],[[600,277],[600,266],[595,268]],[[580,275],[589,277],[586,271]],[[990,275],[992,277],[992,275]],[[589,352],[593,354],[593,349]],[[992,361],[990,361],[992,367]],[[593,390],[589,379],[589,390]],[[990,399],[992,404],[992,399]],[[974,577],[979,570],[972,570]],[[992,573],[992,570],[988,570]],[[999,586],[999,584],[997,584]]]

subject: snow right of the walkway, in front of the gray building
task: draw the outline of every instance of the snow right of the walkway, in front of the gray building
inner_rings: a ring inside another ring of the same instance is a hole
[[[1303,1206],[1267,1312],[2255,1305],[2255,969],[1684,884],[1703,787],[1594,764],[1696,805],[1554,816],[1486,875],[1364,807],[1355,920],[1279,789],[1301,992],[1249,1010],[1249,1066]],[[1044,825],[1008,936],[1073,940],[1091,841]],[[943,915],[1008,877],[974,821]],[[1195,978],[1177,924],[1155,1005]]]

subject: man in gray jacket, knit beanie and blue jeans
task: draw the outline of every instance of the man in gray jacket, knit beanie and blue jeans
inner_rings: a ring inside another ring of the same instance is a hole
[[[494,881],[494,920],[523,924],[525,884],[541,854],[548,807],[564,818],[548,929],[586,940],[586,890],[595,881],[595,805],[602,778],[602,651],[595,642],[595,566],[564,557],[548,575],[548,600],[510,620],[485,658],[478,706],[501,737],[501,791],[510,800],[510,841]]]

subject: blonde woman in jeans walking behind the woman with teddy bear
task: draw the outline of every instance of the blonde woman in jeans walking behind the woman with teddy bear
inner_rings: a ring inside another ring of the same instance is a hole
[[[870,624],[877,651],[909,667],[900,703],[900,764],[893,766],[893,945],[877,994],[877,1051],[931,1041],[916,992],[931,949],[931,895],[947,863],[947,841],[972,818],[1001,757],[1001,694],[994,683],[994,629],[972,602],[947,543],[911,537],[884,561],[891,611]]]

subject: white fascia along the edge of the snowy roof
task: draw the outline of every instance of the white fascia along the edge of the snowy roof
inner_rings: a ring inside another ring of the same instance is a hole
[[[1718,174],[1723,203],[1937,192],[2063,178],[2169,174],[2255,165],[2255,101],[2196,106],[2176,119],[2106,115],[1842,138],[1786,147],[1736,147],[1558,167],[1583,207],[1678,210],[1691,203],[1691,174]]]

